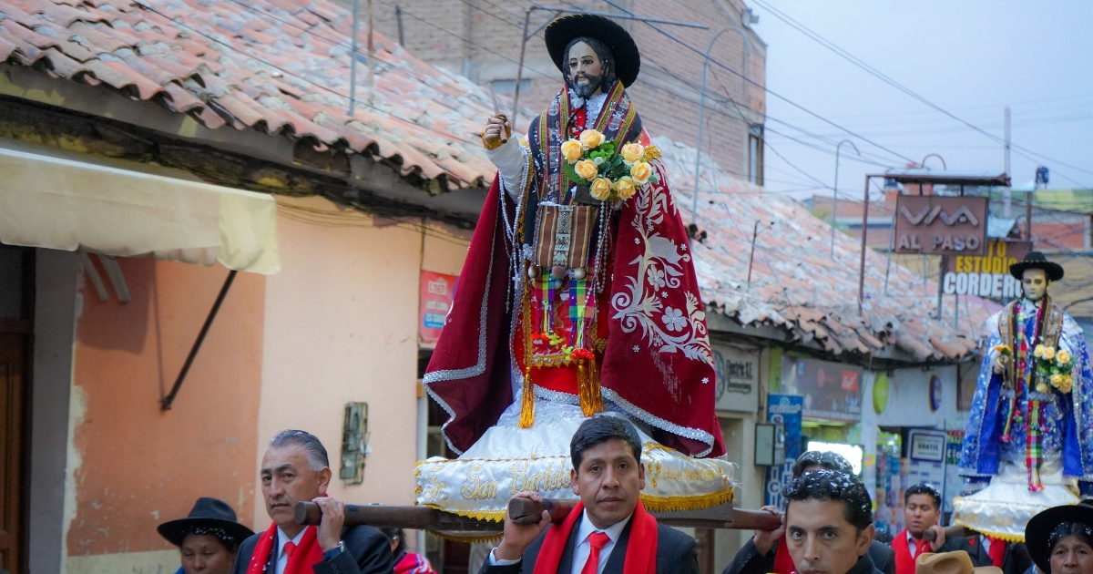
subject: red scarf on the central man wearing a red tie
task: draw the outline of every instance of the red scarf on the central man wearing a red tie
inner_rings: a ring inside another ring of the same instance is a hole
[[[585,505],[577,503],[559,526],[546,530],[539,559],[532,574],[557,574],[562,563],[562,552],[569,541],[573,527],[584,515]],[[645,512],[642,501],[637,501],[634,516],[630,519],[630,542],[626,544],[626,559],[622,564],[623,574],[656,574],[657,572],[657,519]],[[248,573],[249,574],[249,573]]]

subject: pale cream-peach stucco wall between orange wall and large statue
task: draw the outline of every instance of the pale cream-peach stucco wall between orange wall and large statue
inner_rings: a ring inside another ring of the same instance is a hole
[[[321,198],[278,198],[283,271],[266,289],[266,352],[255,478],[270,437],[314,433],[334,471],[330,495],[412,504],[416,461],[419,277],[458,273],[467,234],[342,210]],[[343,485],[345,402],[368,403],[364,482]],[[254,522],[269,516],[256,492]]]

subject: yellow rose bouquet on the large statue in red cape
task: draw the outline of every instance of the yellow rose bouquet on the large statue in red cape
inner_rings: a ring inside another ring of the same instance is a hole
[[[578,139],[562,143],[566,177],[587,186],[599,201],[625,201],[642,187],[659,180],[649,160],[654,150],[640,143],[627,143],[621,149],[595,129],[580,132]]]

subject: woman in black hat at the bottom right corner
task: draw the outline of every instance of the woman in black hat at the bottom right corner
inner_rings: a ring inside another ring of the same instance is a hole
[[[1055,506],[1029,520],[1025,542],[1044,574],[1093,574],[1093,501]]]

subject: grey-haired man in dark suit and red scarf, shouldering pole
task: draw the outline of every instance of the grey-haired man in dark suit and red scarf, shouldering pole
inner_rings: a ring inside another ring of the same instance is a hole
[[[282,431],[262,457],[266,512],[273,524],[239,544],[232,574],[386,574],[391,572],[387,537],[371,526],[342,528],[345,505],[326,495],[327,449],[310,433]],[[322,509],[318,527],[295,520],[297,502]]]

